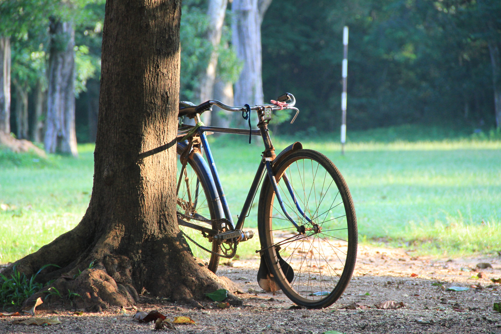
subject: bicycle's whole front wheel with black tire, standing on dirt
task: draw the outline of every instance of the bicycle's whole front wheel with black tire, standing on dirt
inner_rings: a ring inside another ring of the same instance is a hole
[[[296,304],[308,308],[330,306],[348,286],[357,256],[357,218],[346,181],[332,161],[313,150],[295,151],[273,169],[289,214],[298,225],[311,230],[300,234],[286,219],[278,200],[274,203],[275,192],[266,178],[259,200],[258,229],[268,268]],[[284,174],[305,215],[296,207]],[[322,186],[315,185],[317,175]],[[320,229],[315,230],[315,224]],[[274,247],[281,242],[280,248]],[[281,265],[280,257],[294,270],[292,279],[290,272],[284,272],[288,266]]]

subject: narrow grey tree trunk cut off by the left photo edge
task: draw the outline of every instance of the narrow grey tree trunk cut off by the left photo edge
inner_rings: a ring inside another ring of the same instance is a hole
[[[11,133],[11,41],[0,36],[0,131]]]

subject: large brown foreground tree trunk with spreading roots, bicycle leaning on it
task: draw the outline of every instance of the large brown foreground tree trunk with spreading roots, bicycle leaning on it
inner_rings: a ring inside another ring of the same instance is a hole
[[[89,207],[77,227],[13,264],[28,276],[60,265],[40,280],[79,293],[78,307],[130,305],[143,289],[179,300],[228,286],[198,264],[177,225],[180,16],[180,0],[106,2]]]

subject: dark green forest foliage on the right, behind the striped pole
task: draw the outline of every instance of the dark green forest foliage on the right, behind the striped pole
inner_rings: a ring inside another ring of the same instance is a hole
[[[265,98],[291,92],[301,111],[281,133],[338,132],[344,25],[348,135],[402,124],[469,134],[495,126],[488,45],[501,41],[499,1],[274,0],[262,28]]]

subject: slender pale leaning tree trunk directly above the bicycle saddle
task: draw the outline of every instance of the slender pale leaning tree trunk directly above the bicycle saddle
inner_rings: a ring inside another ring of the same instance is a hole
[[[217,58],[219,56],[218,48],[221,42],[222,25],[224,23],[227,4],[228,0],[209,0],[207,39],[212,44],[212,52],[205,73],[200,80],[200,103],[214,98],[214,81],[216,78]],[[204,112],[202,117],[205,125],[210,125],[211,112]]]

